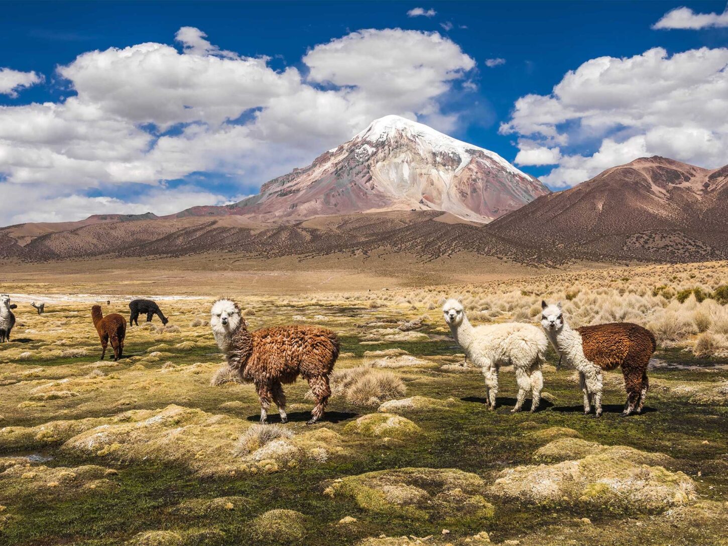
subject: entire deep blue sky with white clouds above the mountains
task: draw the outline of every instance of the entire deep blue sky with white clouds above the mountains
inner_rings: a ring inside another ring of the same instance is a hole
[[[425,15],[408,15],[418,7]],[[716,121],[728,106],[725,8],[5,2],[0,68],[13,72],[4,94],[0,74],[0,191],[15,212],[0,222],[235,199],[389,113],[496,151],[553,189],[645,153],[719,167],[728,162],[728,127]],[[194,30],[175,40],[181,28]],[[119,53],[145,43],[177,53]],[[387,66],[395,52],[405,76]],[[191,55],[228,66],[198,70]],[[12,77],[25,84],[12,87]],[[177,99],[190,104],[159,114]]]

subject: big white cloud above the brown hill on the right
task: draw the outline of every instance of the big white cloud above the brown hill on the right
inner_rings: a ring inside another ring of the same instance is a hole
[[[572,186],[641,156],[725,165],[727,111],[728,48],[668,55],[656,47],[630,58],[588,60],[550,95],[519,98],[500,131],[526,143],[519,152],[526,162],[536,146],[558,146],[558,167],[542,180]]]

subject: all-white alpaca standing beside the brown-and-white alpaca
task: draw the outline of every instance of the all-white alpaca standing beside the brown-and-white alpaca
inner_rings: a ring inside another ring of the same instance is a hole
[[[544,386],[541,364],[548,347],[548,341],[541,329],[523,323],[474,327],[467,320],[462,304],[456,299],[445,302],[443,314],[455,341],[464,349],[467,358],[483,371],[486,378],[486,399],[491,408],[496,407],[499,368],[504,364],[513,364],[518,382],[518,397],[512,411],[521,410],[529,391],[533,396],[531,411],[536,411]]]

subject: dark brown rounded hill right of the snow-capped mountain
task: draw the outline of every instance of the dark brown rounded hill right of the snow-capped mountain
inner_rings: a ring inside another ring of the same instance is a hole
[[[539,197],[488,231],[539,251],[598,260],[728,256],[728,165],[643,157]]]

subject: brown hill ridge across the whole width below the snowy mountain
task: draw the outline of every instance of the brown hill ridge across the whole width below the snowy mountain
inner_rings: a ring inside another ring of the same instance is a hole
[[[539,197],[488,224],[439,210],[298,221],[262,221],[260,215],[107,215],[0,229],[0,257],[45,261],[221,250],[259,258],[408,253],[425,261],[473,253],[529,264],[716,260],[728,257],[727,208],[728,166],[708,170],[650,157]]]

